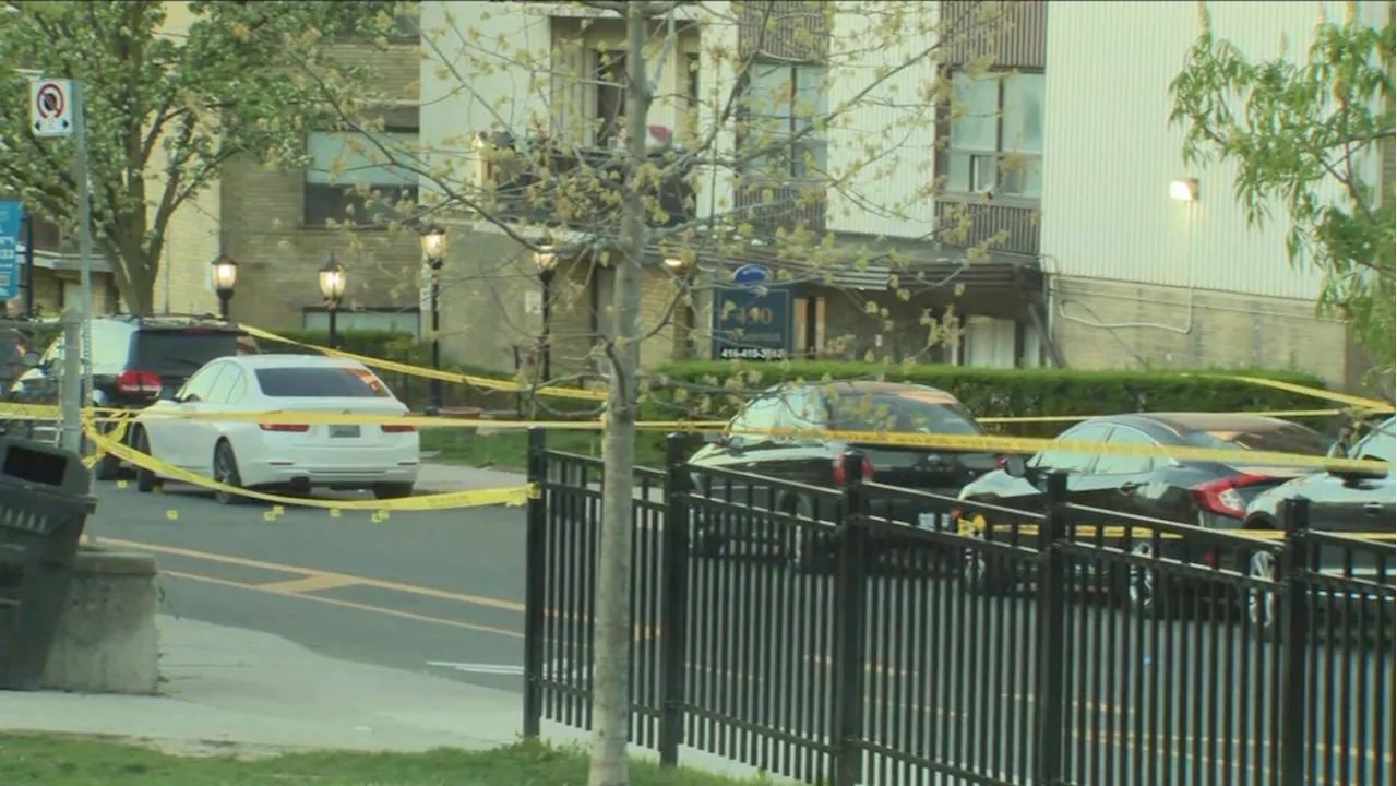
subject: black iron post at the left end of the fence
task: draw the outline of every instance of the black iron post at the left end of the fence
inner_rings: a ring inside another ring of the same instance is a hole
[[[528,429],[528,483],[534,487],[525,512],[524,554],[524,736],[538,737],[543,720],[543,573],[548,527],[546,431]]]

